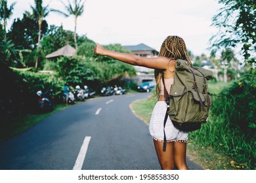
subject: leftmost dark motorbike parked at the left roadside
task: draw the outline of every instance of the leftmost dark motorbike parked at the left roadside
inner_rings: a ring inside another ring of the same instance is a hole
[[[37,102],[40,112],[50,112],[53,111],[53,90],[42,92],[37,91]]]

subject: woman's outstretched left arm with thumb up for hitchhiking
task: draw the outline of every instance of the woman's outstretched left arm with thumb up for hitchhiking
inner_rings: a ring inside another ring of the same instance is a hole
[[[124,63],[129,63],[131,65],[139,65],[143,67],[148,67],[151,69],[167,69],[169,64],[169,58],[157,57],[157,58],[144,58],[137,56],[135,54],[125,54],[121,52],[114,52],[112,50],[107,50],[100,44],[96,43],[95,54],[108,56],[110,58],[117,59]]]

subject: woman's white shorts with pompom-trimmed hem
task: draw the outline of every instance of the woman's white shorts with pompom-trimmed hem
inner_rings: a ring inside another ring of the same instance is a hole
[[[158,101],[153,109],[149,131],[153,139],[163,141],[163,120],[165,118],[167,105],[165,101]],[[171,119],[167,118],[165,124],[165,135],[167,142],[186,142],[188,140],[188,132],[180,131],[173,126]]]

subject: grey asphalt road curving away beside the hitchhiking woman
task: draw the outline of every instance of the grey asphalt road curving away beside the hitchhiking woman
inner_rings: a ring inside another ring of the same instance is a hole
[[[0,142],[0,169],[161,169],[148,125],[129,108],[148,96],[99,97],[57,112]],[[202,169],[187,160],[190,169]]]

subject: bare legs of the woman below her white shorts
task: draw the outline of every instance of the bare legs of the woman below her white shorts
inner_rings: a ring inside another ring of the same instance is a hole
[[[156,154],[162,170],[173,170],[175,166],[179,170],[188,170],[186,165],[186,143],[167,142],[163,152],[163,142],[154,140]]]

